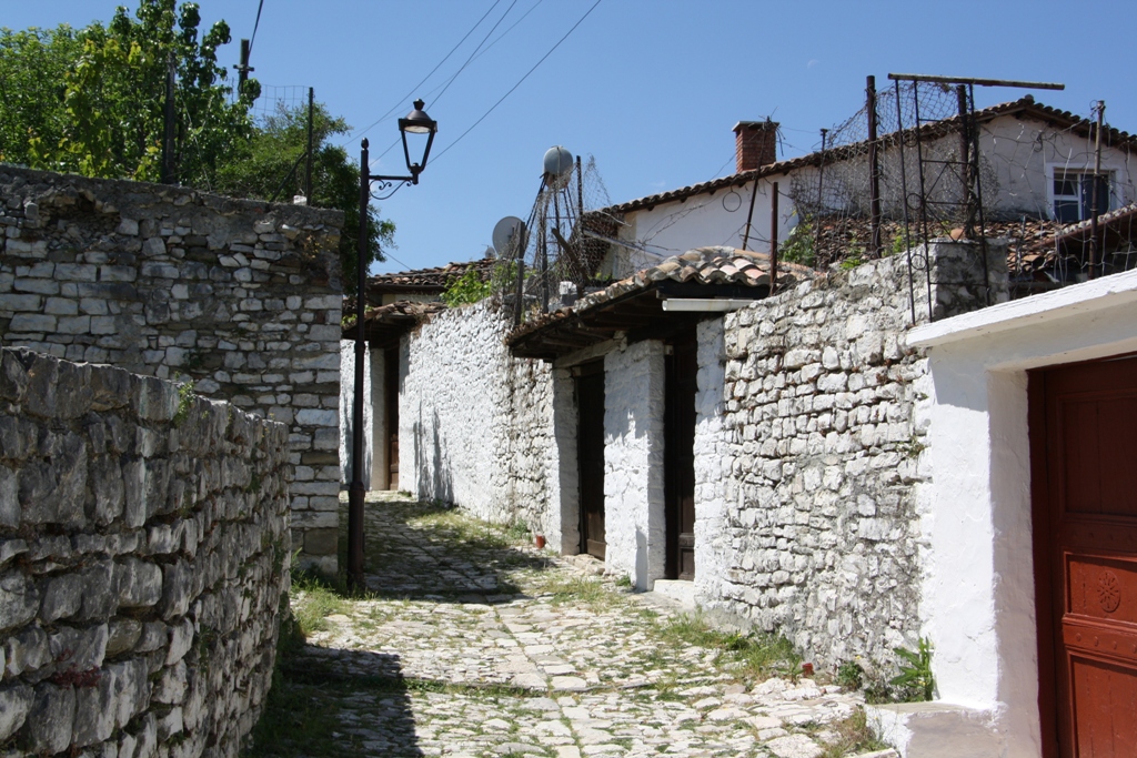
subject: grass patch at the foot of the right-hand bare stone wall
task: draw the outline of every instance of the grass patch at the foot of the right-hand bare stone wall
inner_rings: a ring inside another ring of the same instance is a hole
[[[675,645],[695,645],[719,652],[717,661],[749,680],[773,675],[794,677],[800,673],[802,657],[789,640],[773,634],[722,632],[700,614],[683,614],[658,626],[661,638]]]

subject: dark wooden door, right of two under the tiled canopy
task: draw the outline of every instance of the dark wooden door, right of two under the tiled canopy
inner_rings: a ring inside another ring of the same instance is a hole
[[[670,345],[664,376],[664,500],[667,522],[667,578],[695,578],[695,377],[694,331]]]

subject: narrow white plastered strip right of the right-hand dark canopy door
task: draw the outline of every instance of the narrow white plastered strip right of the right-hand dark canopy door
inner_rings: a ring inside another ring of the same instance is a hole
[[[723,428],[727,352],[723,319],[697,327],[698,374],[695,395],[695,597],[719,598],[728,566],[727,511],[738,498]]]

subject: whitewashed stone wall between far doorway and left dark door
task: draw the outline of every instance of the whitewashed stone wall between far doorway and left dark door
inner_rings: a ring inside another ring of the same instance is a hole
[[[559,532],[551,370],[509,356],[507,325],[483,300],[405,338],[399,486],[551,534]]]

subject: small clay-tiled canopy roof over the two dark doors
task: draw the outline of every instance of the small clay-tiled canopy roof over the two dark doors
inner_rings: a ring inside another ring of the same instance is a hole
[[[796,264],[778,264],[778,285],[792,285],[814,275],[813,269]],[[644,292],[664,282],[678,284],[733,285],[760,288],[770,285],[770,256],[762,252],[727,247],[697,248],[681,256],[672,256],[652,268],[637,272],[598,292],[581,298],[576,303],[545,314],[517,326],[507,338],[514,344],[529,334],[561,322],[588,314],[626,297]],[[707,292],[712,297],[713,292]]]

